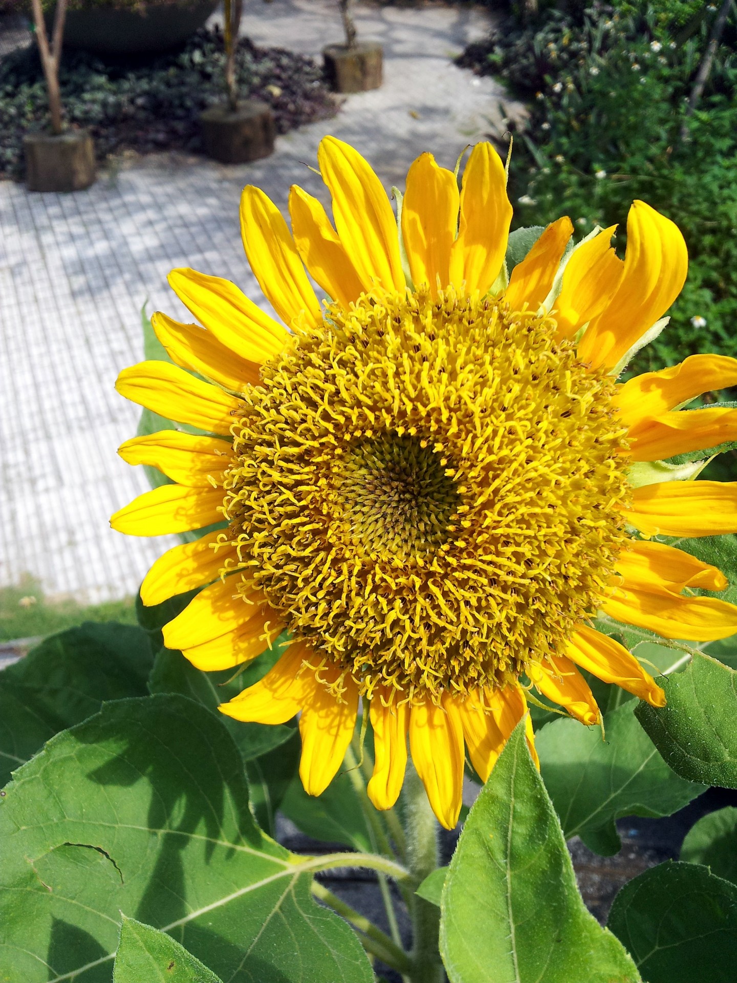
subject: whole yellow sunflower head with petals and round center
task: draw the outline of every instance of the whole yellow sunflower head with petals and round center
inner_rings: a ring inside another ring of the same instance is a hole
[[[319,795],[361,698],[373,804],[396,801],[409,739],[452,828],[465,749],[485,781],[533,688],[586,724],[600,715],[581,669],[663,705],[597,612],[668,639],[737,631],[737,607],[688,590],[721,591],[724,576],[652,539],[737,531],[735,484],[662,481],[699,466],[643,463],[737,436],[735,410],[674,412],[736,384],[737,361],[695,355],[617,383],[686,277],[683,237],[644,202],[624,260],[615,226],[571,248],[560,218],[508,275],[512,208],[491,145],[474,147],[460,192],[420,156],[398,219],[351,146],[325,138],[318,163],[333,221],[293,187],[290,232],[261,191],[243,193],[246,255],[281,323],[227,280],[171,273],[198,324],[154,315],[174,364],[126,369],[117,388],[189,430],[123,444],[173,484],[112,525],[149,536],[219,522],[143,581],[144,605],[203,588],[165,645],[214,670],[287,637],[220,710],[300,714],[300,775]]]

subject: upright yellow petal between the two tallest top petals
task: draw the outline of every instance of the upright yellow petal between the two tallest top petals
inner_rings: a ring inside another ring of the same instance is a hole
[[[407,174],[402,202],[402,237],[412,280],[426,284],[432,297],[450,283],[450,250],[458,228],[460,196],[453,171],[421,154]]]

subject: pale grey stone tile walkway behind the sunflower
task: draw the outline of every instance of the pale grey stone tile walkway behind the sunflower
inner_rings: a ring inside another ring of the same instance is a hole
[[[340,40],[335,0],[253,0],[257,44],[317,56]],[[50,595],[98,601],[135,593],[173,538],[112,532],[109,515],[147,486],[117,446],[138,411],[113,388],[142,358],[140,312],[182,309],[166,285],[192,265],[260,295],[240,243],[245,184],[284,206],[295,182],[324,197],[308,169],[327,133],[364,152],[387,189],[432,149],[452,166],[464,145],[503,131],[504,93],[450,61],[487,28],[466,7],[359,7],[364,39],[385,49],[385,84],[348,97],[333,120],[279,138],[265,161],[223,167],[161,155],[122,162],[86,192],[29,195],[0,183],[0,587],[28,573]]]

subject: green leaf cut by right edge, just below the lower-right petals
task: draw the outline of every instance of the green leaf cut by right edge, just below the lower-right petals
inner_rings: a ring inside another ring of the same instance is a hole
[[[662,685],[666,706],[641,703],[637,718],[665,761],[689,781],[737,788],[737,672],[696,653]]]

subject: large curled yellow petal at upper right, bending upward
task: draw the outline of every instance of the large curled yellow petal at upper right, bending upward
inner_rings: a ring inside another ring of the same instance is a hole
[[[627,216],[624,274],[606,309],[582,338],[579,355],[593,368],[619,362],[681,292],[688,252],[680,230],[645,202]]]

